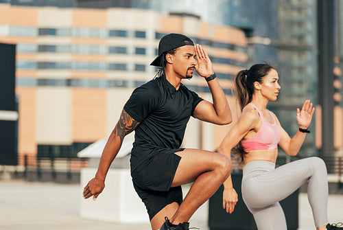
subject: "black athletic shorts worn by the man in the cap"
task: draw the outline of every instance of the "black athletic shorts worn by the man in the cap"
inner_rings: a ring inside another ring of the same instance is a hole
[[[182,150],[159,150],[131,172],[134,189],[145,204],[150,220],[166,205],[182,203],[181,186],[170,187],[181,159],[174,152]]]

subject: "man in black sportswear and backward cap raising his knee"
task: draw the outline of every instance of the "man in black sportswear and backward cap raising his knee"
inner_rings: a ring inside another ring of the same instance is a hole
[[[134,189],[143,200],[153,230],[189,229],[189,218],[231,171],[222,154],[180,148],[190,116],[213,124],[232,121],[226,96],[215,78],[206,51],[182,34],[167,34],[158,45],[157,78],[135,89],[110,134],[95,178],[84,187],[84,198],[95,200],[104,189],[110,163],[123,138],[135,130],[130,166]],[[181,84],[193,71],[205,78],[213,103]],[[182,201],[180,185],[193,182]]]

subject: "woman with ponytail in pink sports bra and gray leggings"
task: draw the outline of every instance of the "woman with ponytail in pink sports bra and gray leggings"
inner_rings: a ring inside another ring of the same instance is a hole
[[[241,116],[226,135],[218,152],[230,157],[235,148],[243,168],[241,192],[244,203],[253,214],[258,229],[287,229],[285,215],[279,204],[305,182],[316,229],[343,229],[330,225],[327,218],[327,169],[318,157],[287,163],[275,169],[278,144],[291,156],[298,153],[311,123],[314,106],[306,100],[301,111],[296,109],[299,130],[291,139],[279,119],[268,111],[267,104],[275,101],[281,87],[276,69],[268,64],[253,65],[239,71],[235,90]],[[237,193],[231,178],[224,182],[223,207],[232,213]]]

